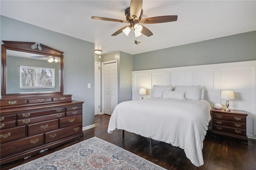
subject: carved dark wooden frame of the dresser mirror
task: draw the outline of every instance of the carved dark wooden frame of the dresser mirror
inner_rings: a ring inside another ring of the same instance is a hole
[[[38,97],[38,96],[48,96],[48,95],[63,95],[63,52],[52,47],[48,47],[44,44],[40,44],[43,47],[42,51],[39,49],[32,49],[32,45],[36,44],[35,42],[14,42],[14,41],[2,41],[2,53],[1,53],[1,66],[2,66],[2,89],[1,95],[2,99],[10,99],[10,98],[23,98],[23,97]],[[15,94],[7,94],[6,93],[6,50],[15,50],[15,51],[23,51],[41,55],[48,55],[52,57],[60,58],[60,91],[59,92],[48,92],[48,93],[15,93]]]

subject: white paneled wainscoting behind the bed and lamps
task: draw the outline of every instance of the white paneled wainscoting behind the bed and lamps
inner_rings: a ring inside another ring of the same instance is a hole
[[[204,99],[212,107],[216,103],[225,107],[226,100],[220,99],[220,91],[234,91],[230,108],[248,113],[247,135],[256,139],[256,60],[133,71],[132,99],[141,99],[140,88],[147,91],[144,99],[151,97],[153,85],[201,85],[206,89]]]

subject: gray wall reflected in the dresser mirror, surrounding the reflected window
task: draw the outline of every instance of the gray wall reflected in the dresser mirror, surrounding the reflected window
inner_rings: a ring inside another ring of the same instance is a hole
[[[6,94],[27,93],[27,92],[47,92],[60,91],[60,62],[49,63],[47,60],[28,59],[22,57],[7,56],[7,79]],[[54,68],[54,85],[55,88],[39,88],[39,89],[20,89],[20,65],[32,67]],[[52,67],[54,65],[54,67]]]

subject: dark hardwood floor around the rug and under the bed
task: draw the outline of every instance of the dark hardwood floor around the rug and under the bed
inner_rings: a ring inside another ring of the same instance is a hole
[[[96,127],[84,130],[84,140],[96,136],[169,170],[256,170],[256,140],[249,139],[246,145],[238,140],[212,137],[209,131],[204,140],[204,165],[196,167],[186,157],[184,150],[178,147],[153,140],[150,148],[148,138],[126,131],[122,138],[122,130],[108,134],[109,119],[108,115],[95,116]],[[1,170],[8,170],[77,142],[80,141],[75,140],[26,160],[3,164]]]

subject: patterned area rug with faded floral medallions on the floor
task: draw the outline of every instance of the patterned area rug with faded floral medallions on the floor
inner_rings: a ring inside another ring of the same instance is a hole
[[[93,137],[12,170],[164,170],[114,144]]]

